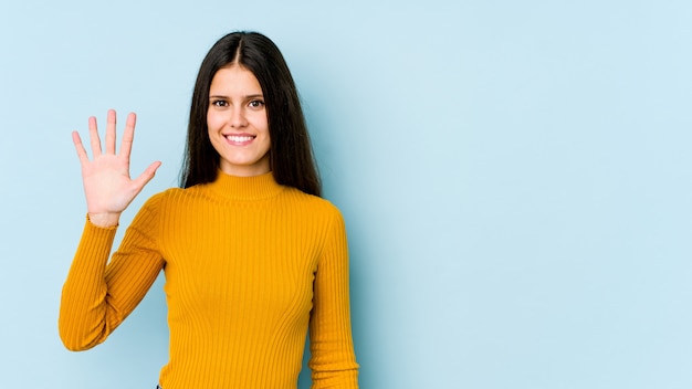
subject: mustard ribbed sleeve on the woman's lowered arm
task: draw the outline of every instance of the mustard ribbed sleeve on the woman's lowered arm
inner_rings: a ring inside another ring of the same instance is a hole
[[[315,275],[310,340],[313,389],[358,388],[358,364],[350,330],[348,245],[338,211]]]

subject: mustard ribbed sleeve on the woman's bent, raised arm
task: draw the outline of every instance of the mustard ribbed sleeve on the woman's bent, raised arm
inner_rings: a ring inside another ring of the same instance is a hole
[[[86,221],[60,305],[59,332],[67,349],[85,350],[103,343],[156,281],[164,260],[155,239],[155,198],[137,213],[111,261],[116,228]]]

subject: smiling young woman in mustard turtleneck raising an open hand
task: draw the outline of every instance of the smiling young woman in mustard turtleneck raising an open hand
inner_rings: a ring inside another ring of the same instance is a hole
[[[87,220],[63,287],[60,335],[94,347],[161,270],[170,328],[162,389],[295,389],[310,329],[313,388],[357,388],[348,253],[339,211],[319,198],[289,67],[266,36],[234,32],[205,57],[190,108],[181,187],[139,210],[113,256],[120,213],[160,162],[129,178],[135,115],[105,151],[90,118],[77,133]]]

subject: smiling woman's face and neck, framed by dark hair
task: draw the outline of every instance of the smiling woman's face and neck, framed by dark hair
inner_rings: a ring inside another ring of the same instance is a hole
[[[270,171],[266,108],[262,87],[252,72],[234,64],[214,74],[207,127],[223,172],[250,177]]]

